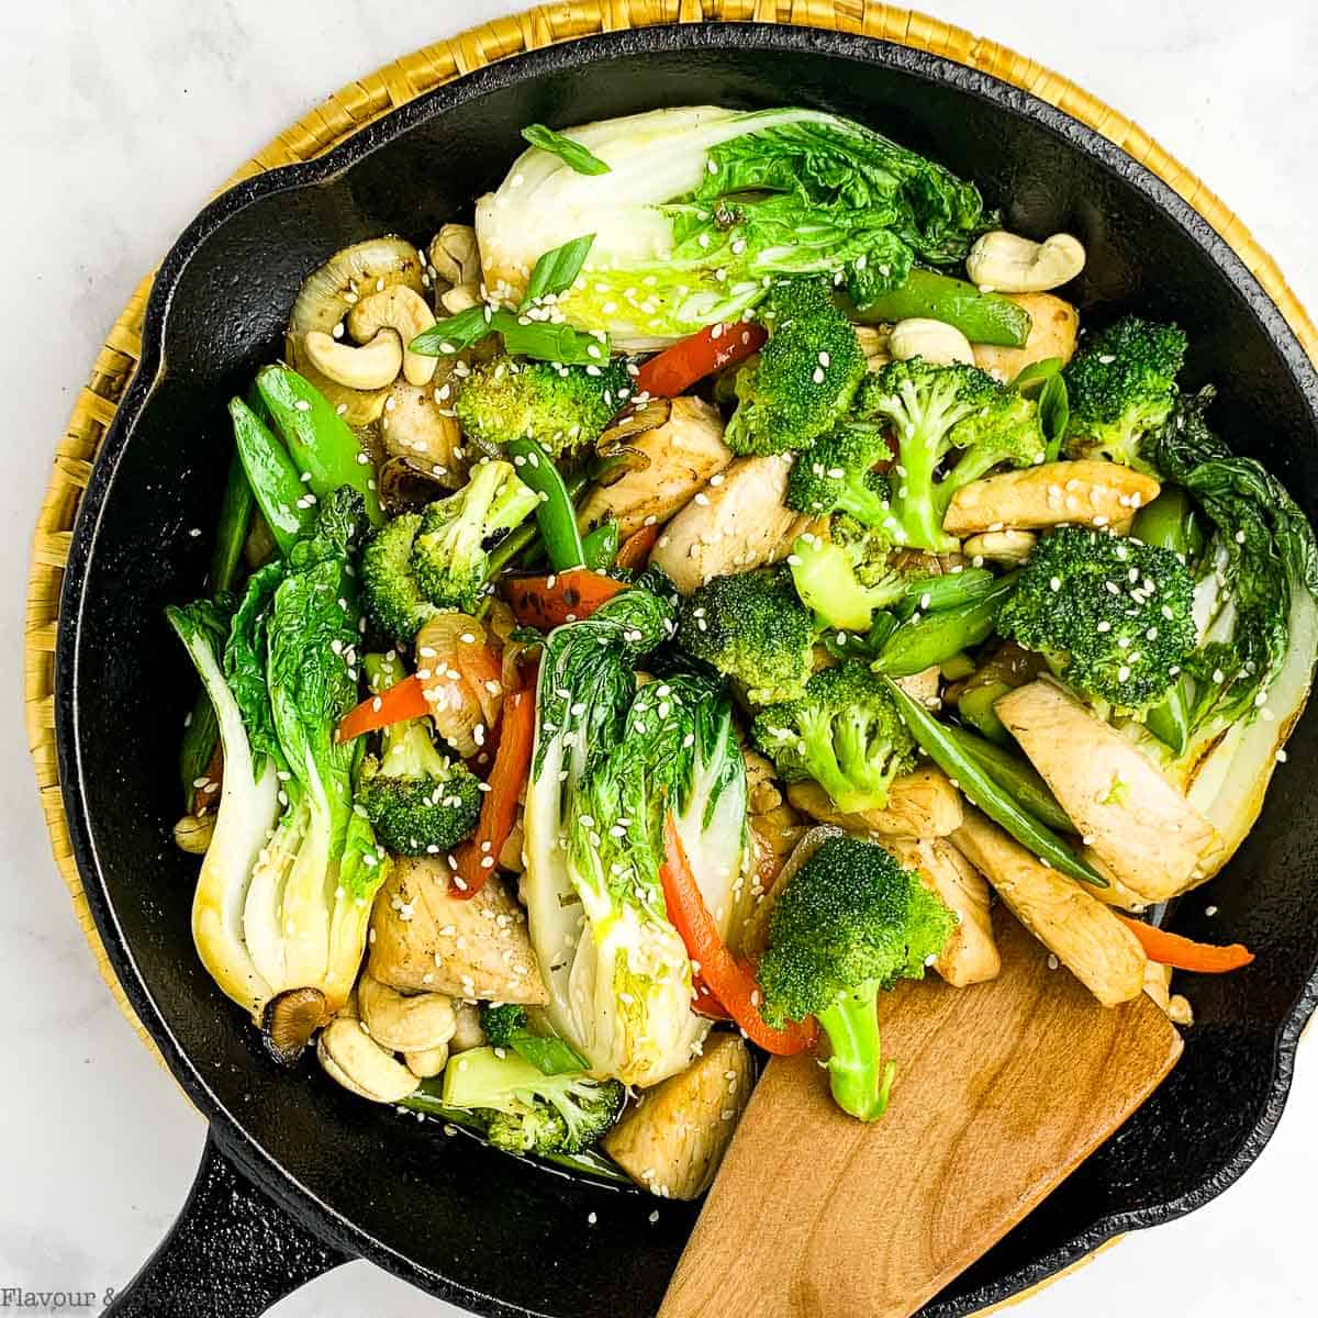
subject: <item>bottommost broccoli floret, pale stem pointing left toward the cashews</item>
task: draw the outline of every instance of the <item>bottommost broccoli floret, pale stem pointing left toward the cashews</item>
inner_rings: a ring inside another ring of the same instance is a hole
[[[510,1153],[580,1153],[613,1127],[625,1097],[616,1079],[546,1075],[493,1048],[472,1048],[444,1072],[444,1103],[481,1114],[490,1144]]]

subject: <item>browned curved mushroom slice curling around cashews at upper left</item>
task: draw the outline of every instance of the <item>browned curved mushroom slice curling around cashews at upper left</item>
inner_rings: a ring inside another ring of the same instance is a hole
[[[372,293],[402,286],[422,293],[420,253],[399,237],[369,239],[336,252],[314,270],[298,293],[289,316],[285,356],[295,370],[323,393],[349,426],[365,426],[384,410],[386,390],[348,389],[319,370],[307,357],[304,340],[312,331],[333,335],[335,326]],[[397,373],[397,372],[395,372]]]

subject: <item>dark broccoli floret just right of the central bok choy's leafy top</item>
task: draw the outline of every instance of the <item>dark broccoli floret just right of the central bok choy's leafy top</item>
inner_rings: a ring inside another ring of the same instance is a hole
[[[813,645],[813,622],[783,568],[714,577],[677,613],[677,646],[739,681],[753,704],[800,695]]]

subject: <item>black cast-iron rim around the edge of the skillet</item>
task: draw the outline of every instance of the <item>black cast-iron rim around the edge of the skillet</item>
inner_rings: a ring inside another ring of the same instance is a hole
[[[233,215],[258,199],[326,183],[415,124],[442,116],[455,105],[525,79],[565,69],[583,70],[612,62],[617,57],[635,57],[651,51],[717,50],[729,46],[774,53],[805,51],[851,62],[898,67],[917,79],[952,86],[971,99],[988,100],[1015,117],[1045,128],[1068,148],[1085,153],[1101,167],[1116,175],[1124,186],[1135,188],[1168,215],[1186,239],[1222,273],[1285,361],[1307,405],[1310,420],[1318,428],[1318,373],[1305,353],[1298,335],[1234,248],[1198,210],[1099,130],[1003,79],[954,59],[917,50],[900,41],[799,25],[705,22],[662,24],[559,42],[510,55],[442,84],[365,125],[322,157],[249,178],[220,194],[188,224],[157,272],[142,326],[141,357],[98,452],[79,506],[61,592],[61,619],[67,621],[70,626],[61,626],[55,655],[55,739],[61,791],[74,859],[83,878],[88,907],[107,956],[129,1003],[159,1045],[175,1079],[194,1104],[206,1114],[224,1152],[283,1209],[323,1239],[352,1253],[369,1257],[445,1300],[468,1306],[472,1304],[485,1306],[485,1311],[489,1313],[526,1314],[529,1310],[510,1305],[496,1296],[472,1290],[461,1282],[416,1264],[318,1199],[279,1164],[274,1155],[244,1130],[236,1114],[224,1107],[152,998],[145,979],[137,970],[133,950],[115,916],[84,809],[82,791],[84,775],[74,693],[78,685],[86,576],[95,554],[100,518],[117,474],[119,460],[166,369],[163,327],[178,281],[188,261],[203,248],[208,237]],[[1318,1007],[1318,961],[1310,967],[1309,979],[1273,1036],[1273,1069],[1264,1111],[1236,1153],[1217,1176],[1174,1199],[1107,1214],[1065,1246],[1041,1255],[1027,1267],[981,1286],[956,1304],[938,1305],[934,1301],[924,1311],[928,1314],[974,1311],[1062,1271],[1115,1235],[1172,1220],[1220,1194],[1253,1162],[1276,1130],[1290,1087],[1296,1046],[1315,1007]]]

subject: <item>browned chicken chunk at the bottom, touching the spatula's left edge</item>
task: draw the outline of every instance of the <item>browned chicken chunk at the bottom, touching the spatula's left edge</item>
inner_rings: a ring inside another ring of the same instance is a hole
[[[666,1199],[696,1199],[713,1184],[741,1114],[754,1065],[738,1035],[714,1033],[676,1075],[642,1090],[601,1144],[633,1181]]]

